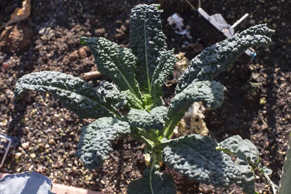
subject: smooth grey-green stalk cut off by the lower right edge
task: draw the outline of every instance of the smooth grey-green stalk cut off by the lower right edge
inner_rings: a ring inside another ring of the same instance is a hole
[[[287,149],[287,154],[282,170],[278,194],[290,194],[291,192],[291,138]]]

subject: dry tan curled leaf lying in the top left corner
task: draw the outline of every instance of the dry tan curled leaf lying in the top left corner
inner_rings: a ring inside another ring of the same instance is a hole
[[[11,14],[10,20],[6,22],[4,25],[2,25],[0,29],[27,18],[28,16],[30,16],[31,9],[32,9],[31,0],[24,0],[22,2],[22,7],[21,8],[17,7],[14,13]]]

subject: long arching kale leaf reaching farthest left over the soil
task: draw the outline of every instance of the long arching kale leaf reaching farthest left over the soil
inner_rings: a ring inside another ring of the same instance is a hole
[[[65,73],[40,71],[27,74],[16,82],[15,97],[27,89],[52,93],[66,109],[81,118],[118,115],[113,107],[105,107],[92,85]]]

